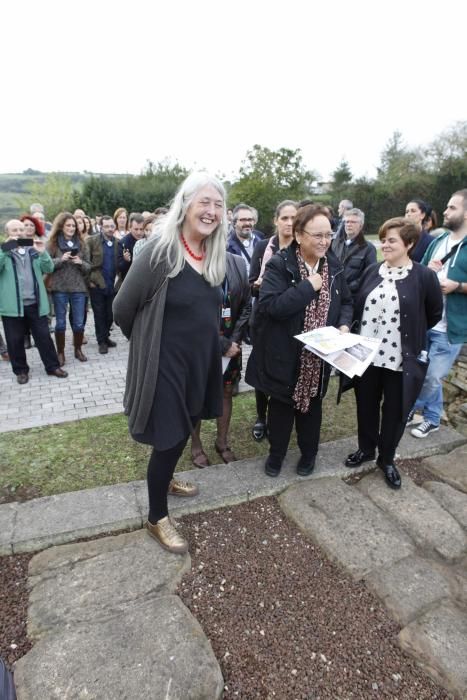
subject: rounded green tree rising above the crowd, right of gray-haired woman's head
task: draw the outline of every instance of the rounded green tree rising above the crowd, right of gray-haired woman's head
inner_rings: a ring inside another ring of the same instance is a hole
[[[300,149],[272,151],[255,144],[242,161],[239,179],[229,191],[229,204],[251,204],[259,213],[258,226],[272,230],[277,205],[284,199],[309,196],[316,174],[307,170]]]

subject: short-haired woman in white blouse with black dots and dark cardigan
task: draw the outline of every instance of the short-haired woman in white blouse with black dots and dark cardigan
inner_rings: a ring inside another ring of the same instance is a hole
[[[396,448],[428,366],[422,352],[426,332],[443,313],[435,273],[410,258],[418,238],[418,228],[408,219],[386,221],[379,230],[384,262],[367,268],[355,300],[354,332],[381,344],[372,364],[355,379],[358,450],[345,465],[373,460],[378,448],[376,462],[394,489],[401,485]]]

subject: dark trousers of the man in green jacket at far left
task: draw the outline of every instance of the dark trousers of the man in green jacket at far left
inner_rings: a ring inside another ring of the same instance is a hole
[[[29,372],[24,349],[24,336],[26,333],[32,334],[46,372],[53,372],[60,367],[57,351],[50,337],[47,316],[39,316],[37,304],[25,306],[24,316],[22,317],[3,316],[2,318],[11,368],[15,374],[27,374]]]

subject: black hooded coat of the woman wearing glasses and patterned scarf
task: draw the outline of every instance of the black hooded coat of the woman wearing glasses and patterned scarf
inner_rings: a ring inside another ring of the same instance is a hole
[[[245,379],[256,389],[279,401],[293,403],[303,344],[294,338],[303,332],[305,309],[318,297],[311,284],[302,280],[295,241],[274,255],[266,265],[254,321],[254,346]],[[344,270],[328,251],[331,302],[326,324],[347,325],[352,320],[352,296]],[[321,364],[318,396],[326,394],[331,366]]]

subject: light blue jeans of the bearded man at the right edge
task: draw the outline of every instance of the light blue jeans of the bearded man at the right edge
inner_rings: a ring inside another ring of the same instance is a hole
[[[462,343],[450,343],[447,333],[430,330],[427,333],[427,350],[430,364],[415,409],[423,411],[423,418],[432,425],[439,425],[443,413],[443,379],[449,374]]]

